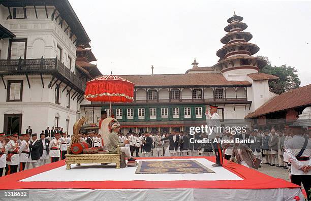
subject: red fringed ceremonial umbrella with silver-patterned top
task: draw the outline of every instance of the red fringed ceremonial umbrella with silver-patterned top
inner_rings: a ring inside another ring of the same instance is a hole
[[[86,83],[84,98],[92,102],[133,102],[134,83],[119,76],[102,76]]]

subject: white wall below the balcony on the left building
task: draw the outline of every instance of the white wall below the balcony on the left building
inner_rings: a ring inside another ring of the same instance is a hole
[[[0,130],[4,129],[4,114],[22,114],[22,131],[28,125],[32,126],[33,132],[40,133],[41,130],[54,125],[54,118],[59,117],[59,127],[66,128],[66,119],[69,119],[69,131],[72,132],[73,124],[77,116],[77,101],[71,98],[70,108],[67,108],[67,90],[61,93],[60,104],[55,104],[55,85],[48,88],[51,75],[44,75],[44,88],[42,88],[39,75],[29,75],[30,89],[25,76],[5,76],[4,80],[8,87],[8,80],[23,80],[22,102],[7,102],[7,90],[3,83],[0,83]],[[65,88],[61,84],[60,91]],[[68,88],[69,89],[69,88]],[[73,95],[73,90],[71,95]]]

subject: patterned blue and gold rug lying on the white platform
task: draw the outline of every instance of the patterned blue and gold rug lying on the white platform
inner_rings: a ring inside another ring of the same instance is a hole
[[[196,160],[142,160],[135,174],[185,174],[215,173]]]

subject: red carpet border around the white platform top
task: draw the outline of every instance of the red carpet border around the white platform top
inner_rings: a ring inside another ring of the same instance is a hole
[[[215,162],[215,157],[152,157],[138,159],[186,159],[186,158],[206,158]],[[228,161],[225,161],[227,163]],[[272,189],[272,188],[298,188],[300,186],[287,182],[283,179],[270,177],[256,170],[246,168],[237,163],[228,163],[223,167],[228,171],[241,177],[243,180],[218,180],[218,181],[39,181],[21,182],[20,180],[34,175],[59,168],[65,165],[65,161],[58,161],[15,173],[0,178],[0,190],[9,189],[59,189],[59,188],[79,188],[79,189],[154,189],[154,188],[213,188],[213,189]],[[65,168],[66,166],[64,166]],[[68,170],[70,171],[70,170]]]

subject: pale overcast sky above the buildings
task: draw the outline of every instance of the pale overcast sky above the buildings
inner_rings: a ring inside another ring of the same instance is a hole
[[[183,74],[194,58],[212,66],[224,44],[227,19],[248,25],[255,55],[295,66],[311,84],[311,1],[69,0],[103,75]]]

